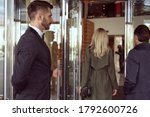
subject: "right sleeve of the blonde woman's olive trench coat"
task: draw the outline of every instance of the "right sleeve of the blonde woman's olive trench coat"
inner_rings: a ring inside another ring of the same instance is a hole
[[[112,50],[109,51],[109,66],[108,66],[108,74],[111,79],[111,84],[113,89],[118,88],[117,79],[116,79],[116,72],[115,72],[115,65],[114,65],[114,58]]]

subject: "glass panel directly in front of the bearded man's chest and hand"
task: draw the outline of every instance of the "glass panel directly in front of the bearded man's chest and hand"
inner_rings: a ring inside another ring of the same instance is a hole
[[[51,52],[51,69],[54,70],[58,67],[58,69],[62,69],[62,42],[60,39],[60,24],[51,24],[50,31],[54,31],[54,39],[49,40],[49,48]],[[48,33],[47,31],[45,34],[45,38],[48,39]],[[60,77],[58,78],[51,78],[51,99],[56,100],[59,99],[59,93],[60,93]]]

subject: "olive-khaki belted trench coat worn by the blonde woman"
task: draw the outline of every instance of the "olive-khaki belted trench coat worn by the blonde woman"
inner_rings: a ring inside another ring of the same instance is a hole
[[[112,99],[112,90],[117,89],[118,85],[111,48],[101,59],[94,56],[92,49],[87,48],[82,87],[86,84],[88,77],[90,78],[88,84],[92,87],[92,96],[88,99]]]

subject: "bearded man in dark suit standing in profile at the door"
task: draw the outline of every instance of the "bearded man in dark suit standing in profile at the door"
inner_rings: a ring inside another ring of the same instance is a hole
[[[15,49],[12,85],[16,100],[50,99],[50,77],[57,77],[57,69],[51,71],[50,52],[42,36],[53,21],[52,8],[46,1],[33,1],[27,8],[30,24]]]

